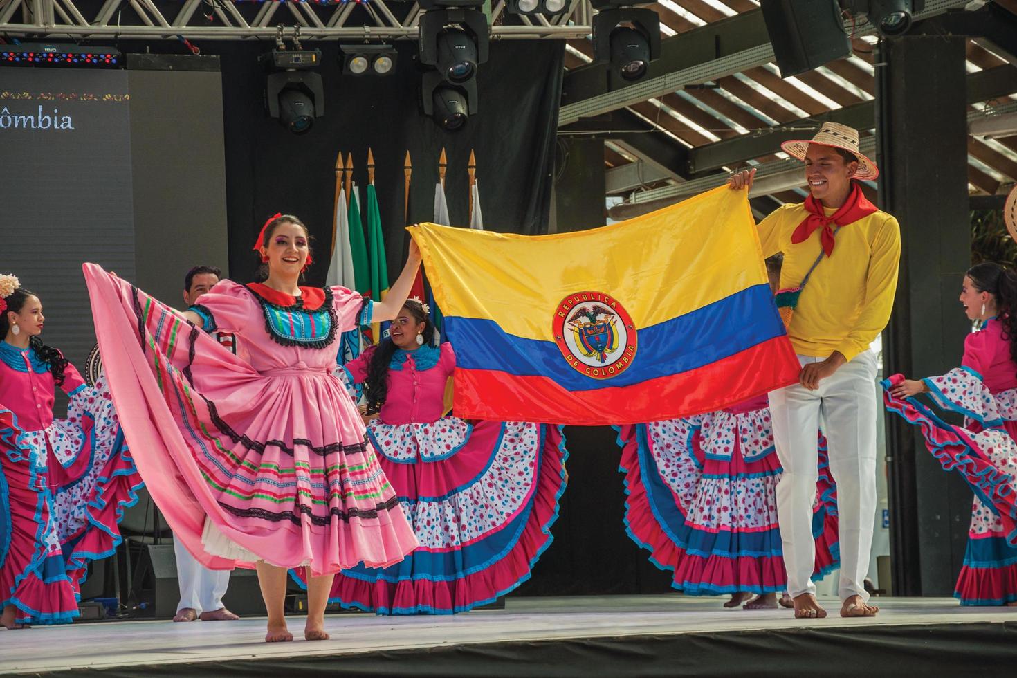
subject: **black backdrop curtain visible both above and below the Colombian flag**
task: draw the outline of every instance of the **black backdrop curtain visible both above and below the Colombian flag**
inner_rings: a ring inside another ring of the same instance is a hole
[[[445,193],[454,225],[467,223],[467,163],[472,148],[476,151],[485,228],[531,235],[546,232],[563,42],[492,44],[490,60],[480,66],[478,76],[479,115],[457,133],[441,130],[419,113],[415,43],[398,45],[397,72],[387,77],[343,76],[335,43],[306,43],[305,47],[323,52],[318,72],[324,80],[326,115],[315,120],[310,132],[299,136],[264,113],[264,73],[257,57],[270,45],[200,45],[202,54],[218,54],[222,60],[231,278],[241,282],[251,279],[257,261],[250,248],[258,229],[268,215],[282,211],[299,215],[310,228],[318,263],[308,271],[308,283],[324,282],[333,228],[334,168],[340,150],[344,158],[353,153],[355,180],[361,187],[367,184],[368,146],[373,151],[390,280],[401,270],[407,247],[403,230],[407,150],[413,160],[409,223],[432,219],[438,156],[443,146],[448,160]],[[122,42],[120,49],[180,54],[183,46]],[[574,197],[603,202],[602,193]],[[202,215],[194,218],[201,220]],[[617,472],[614,432],[603,427],[569,427],[565,435],[571,452],[570,482],[552,530],[554,542],[517,595],[670,591],[670,573],[650,564],[647,552],[625,535],[625,495]]]

